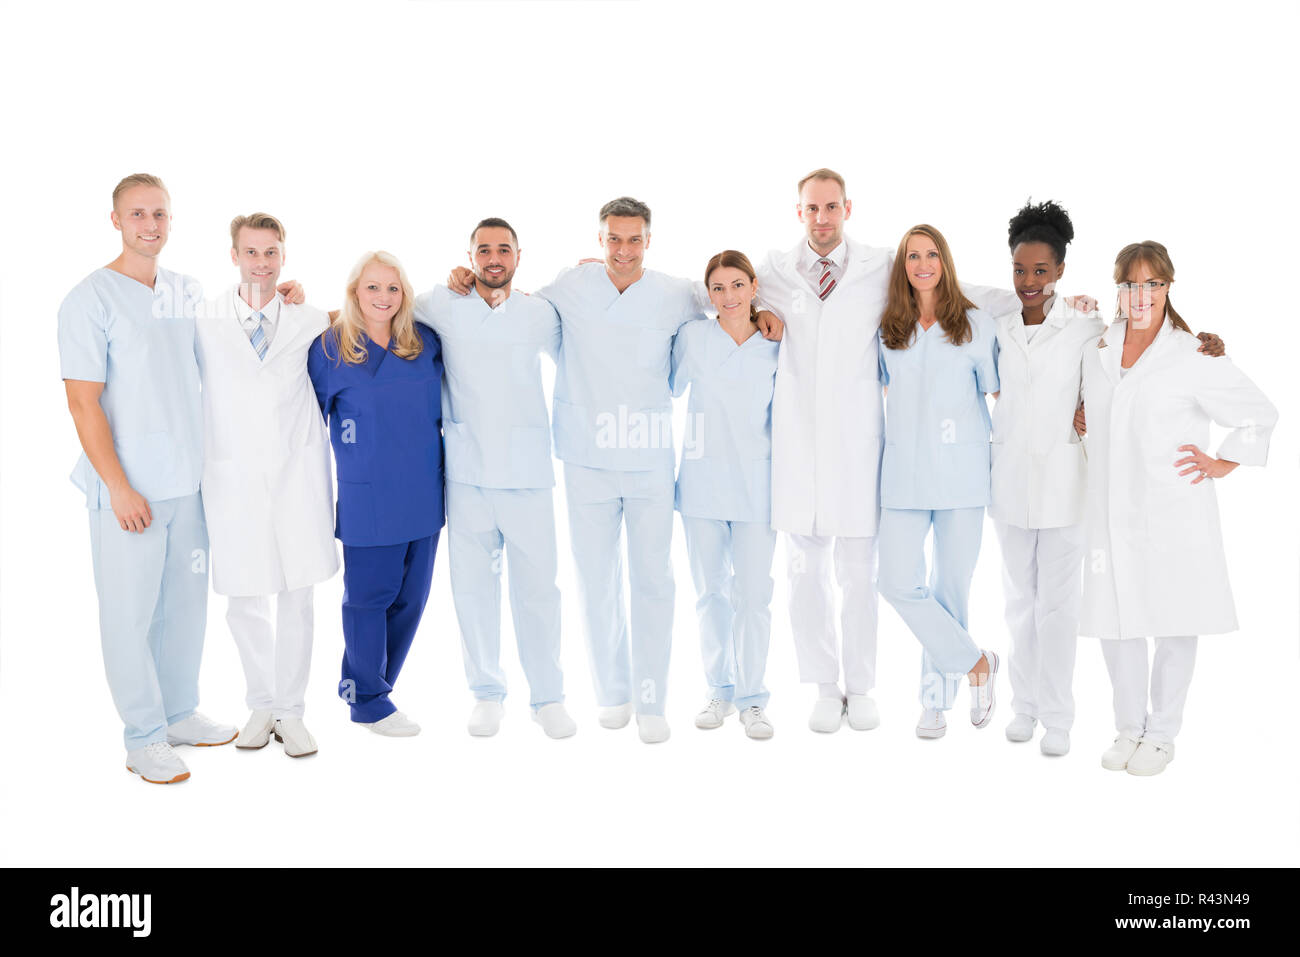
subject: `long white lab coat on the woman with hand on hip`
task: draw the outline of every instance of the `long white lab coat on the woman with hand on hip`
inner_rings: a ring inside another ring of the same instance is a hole
[[[1088,508],[1079,631],[1101,638],[1236,631],[1213,480],[1174,462],[1202,451],[1262,465],[1278,411],[1227,358],[1166,319],[1121,377],[1126,322],[1083,360]],[[1231,429],[1210,451],[1210,423]]]

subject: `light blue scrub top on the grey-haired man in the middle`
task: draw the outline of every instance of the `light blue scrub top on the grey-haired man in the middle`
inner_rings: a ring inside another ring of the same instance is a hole
[[[623,472],[672,471],[672,338],[706,319],[696,283],[646,269],[623,294],[603,263],[564,269],[541,290],[560,316],[555,455]]]

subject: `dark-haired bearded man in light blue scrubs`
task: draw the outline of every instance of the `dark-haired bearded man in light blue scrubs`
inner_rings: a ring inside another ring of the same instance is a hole
[[[577,731],[564,710],[560,592],[555,586],[551,430],[541,355],[559,356],[560,320],[545,299],[511,293],[519,237],[499,218],[469,237],[469,295],[437,286],[415,303],[442,342],[451,597],[465,677],[477,703],[469,733],[495,735],[503,714],[500,572],[534,719],[551,737]]]

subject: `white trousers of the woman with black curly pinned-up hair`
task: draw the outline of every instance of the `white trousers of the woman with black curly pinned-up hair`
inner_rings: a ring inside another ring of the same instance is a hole
[[[1080,525],[1018,528],[994,521],[1011,635],[1011,710],[1045,728],[1074,724],[1074,658],[1083,596]]]

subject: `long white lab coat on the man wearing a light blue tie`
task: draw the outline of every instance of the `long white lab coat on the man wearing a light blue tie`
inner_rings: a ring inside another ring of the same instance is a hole
[[[281,302],[257,359],[235,312],[235,287],[205,304],[196,350],[203,377],[203,508],[212,588],[269,596],[338,571],[329,436],[307,376],[307,350],[329,325]]]

